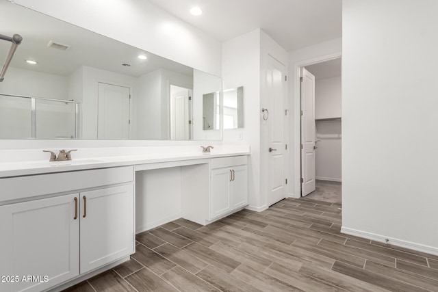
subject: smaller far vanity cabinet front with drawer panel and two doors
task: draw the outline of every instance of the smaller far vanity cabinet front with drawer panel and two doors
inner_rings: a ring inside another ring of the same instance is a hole
[[[248,203],[246,156],[211,159],[210,220]]]

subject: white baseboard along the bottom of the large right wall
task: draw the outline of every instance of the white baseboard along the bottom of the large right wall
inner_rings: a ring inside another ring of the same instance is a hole
[[[355,235],[357,237],[363,237],[366,239],[372,239],[374,241],[400,246],[401,248],[409,248],[411,250],[416,250],[418,252],[426,252],[427,254],[435,254],[438,256],[438,248],[434,248],[433,246],[428,246],[428,245],[423,245],[420,243],[405,241],[402,239],[385,237],[383,235],[376,235],[374,233],[368,233],[365,231],[347,228],[344,226],[341,227],[341,233],[345,233],[348,235]]]

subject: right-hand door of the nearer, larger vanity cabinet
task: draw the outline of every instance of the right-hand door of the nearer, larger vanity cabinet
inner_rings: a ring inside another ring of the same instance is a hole
[[[81,193],[81,274],[134,252],[133,185]]]

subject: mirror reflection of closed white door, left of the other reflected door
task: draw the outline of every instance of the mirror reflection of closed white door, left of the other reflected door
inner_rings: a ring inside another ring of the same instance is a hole
[[[130,96],[130,88],[99,82],[99,139],[129,139]]]

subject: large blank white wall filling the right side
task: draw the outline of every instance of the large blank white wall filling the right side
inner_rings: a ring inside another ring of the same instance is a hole
[[[438,254],[438,1],[342,9],[342,230]]]

